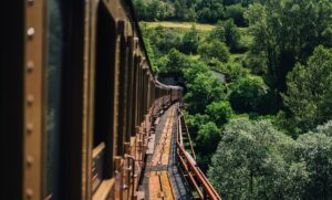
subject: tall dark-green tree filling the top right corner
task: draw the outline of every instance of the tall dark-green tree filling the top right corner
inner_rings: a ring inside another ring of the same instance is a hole
[[[270,85],[284,92],[294,63],[304,63],[315,46],[332,45],[330,0],[267,0],[246,12],[255,56],[267,61]]]

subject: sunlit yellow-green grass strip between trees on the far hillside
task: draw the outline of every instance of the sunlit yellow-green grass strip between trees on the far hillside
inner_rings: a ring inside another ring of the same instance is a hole
[[[165,27],[165,28],[180,28],[180,29],[190,29],[194,24],[199,31],[210,31],[214,29],[212,24],[203,24],[195,22],[175,22],[175,21],[162,21],[162,22],[146,22],[147,27]]]

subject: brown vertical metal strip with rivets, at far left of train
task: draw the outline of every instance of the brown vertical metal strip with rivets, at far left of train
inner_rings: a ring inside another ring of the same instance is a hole
[[[44,1],[25,1],[23,199],[42,199]]]

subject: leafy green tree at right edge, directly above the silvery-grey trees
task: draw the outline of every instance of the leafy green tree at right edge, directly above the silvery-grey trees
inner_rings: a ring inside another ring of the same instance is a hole
[[[287,77],[283,99],[302,130],[332,117],[332,50],[318,46],[307,65],[297,64]]]

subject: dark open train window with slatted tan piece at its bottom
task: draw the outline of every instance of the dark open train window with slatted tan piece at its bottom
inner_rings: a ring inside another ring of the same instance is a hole
[[[95,98],[93,134],[93,191],[103,179],[112,177],[113,105],[115,80],[115,21],[100,3],[96,24]]]

